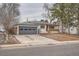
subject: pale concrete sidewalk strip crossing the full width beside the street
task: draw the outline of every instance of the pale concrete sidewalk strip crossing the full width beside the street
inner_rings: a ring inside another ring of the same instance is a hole
[[[0,45],[0,49],[16,49],[16,48],[25,48],[25,47],[42,47],[42,46],[57,46],[57,45],[65,45],[65,44],[75,44],[79,43],[79,41],[74,42],[61,42],[59,44],[41,44],[41,45],[34,45],[34,44],[11,44],[11,45]]]

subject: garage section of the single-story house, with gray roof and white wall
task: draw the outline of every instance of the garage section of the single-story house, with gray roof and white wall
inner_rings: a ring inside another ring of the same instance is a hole
[[[28,21],[14,26],[15,34],[39,34],[47,33],[46,22],[41,21]]]

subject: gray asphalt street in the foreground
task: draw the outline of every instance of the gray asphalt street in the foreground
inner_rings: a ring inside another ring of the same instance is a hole
[[[79,43],[0,49],[0,56],[79,56]]]

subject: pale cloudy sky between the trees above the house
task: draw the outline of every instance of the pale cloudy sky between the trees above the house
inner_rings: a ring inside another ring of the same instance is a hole
[[[43,14],[43,3],[23,3],[20,5],[21,21],[40,20]]]

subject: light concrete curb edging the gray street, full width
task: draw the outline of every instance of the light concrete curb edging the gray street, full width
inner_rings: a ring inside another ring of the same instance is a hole
[[[75,44],[79,43],[79,41],[64,41],[60,43],[50,43],[50,44],[8,44],[8,45],[0,45],[0,48],[20,48],[20,47],[40,47],[40,46],[50,46],[50,45],[65,45],[65,44]]]

